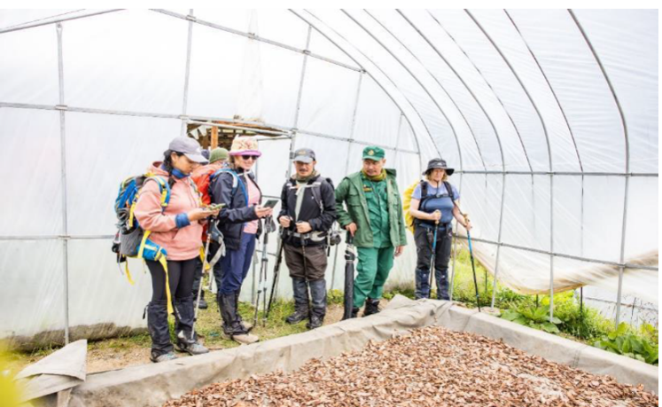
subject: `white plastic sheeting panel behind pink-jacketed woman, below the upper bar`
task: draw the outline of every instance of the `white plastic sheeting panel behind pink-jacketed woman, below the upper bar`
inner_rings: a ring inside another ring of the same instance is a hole
[[[181,121],[66,113],[67,225],[70,234],[112,235],[122,180],[144,174],[179,135]],[[110,243],[106,242],[106,250]]]

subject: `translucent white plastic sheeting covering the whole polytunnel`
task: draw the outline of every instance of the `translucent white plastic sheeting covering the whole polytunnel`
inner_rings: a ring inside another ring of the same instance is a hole
[[[619,265],[657,254],[656,12],[195,10],[190,20],[188,10],[173,12],[63,21],[62,102],[56,26],[0,34],[0,51],[11,56],[0,61],[8,147],[0,173],[22,192],[0,203],[0,264],[49,304],[27,306],[33,319],[0,314],[16,327],[4,336],[61,330],[65,309],[72,328],[144,326],[137,316],[149,279],[131,262],[129,286],[114,262],[112,202],[121,179],[161,159],[186,115],[257,115],[293,130],[260,142],[256,173],[270,196],[293,171],[291,148],[315,149],[318,169],[338,184],[360,170],[365,145],[382,145],[401,191],[442,156],[456,168],[450,182],[471,216],[476,254],[520,292],[588,284],[599,297],[590,303],[608,304],[614,316]],[[0,17],[0,30],[41,17],[12,16]],[[408,240],[389,284],[413,281],[409,232]],[[329,287],[342,287],[343,252],[331,249]],[[25,260],[32,253],[36,267]],[[657,256],[648,260],[647,269],[625,266],[621,319],[657,308]],[[39,270],[52,273],[44,279]],[[281,273],[278,293],[289,296],[284,265]],[[98,292],[98,282],[113,295]],[[245,284],[254,292],[250,278]],[[33,298],[16,290],[1,297],[14,292],[26,304]]]

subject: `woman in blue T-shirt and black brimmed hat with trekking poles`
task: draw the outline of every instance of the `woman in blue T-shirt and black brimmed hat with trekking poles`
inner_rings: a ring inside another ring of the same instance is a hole
[[[423,173],[425,179],[417,183],[411,193],[409,216],[413,223],[409,223],[409,226],[414,227],[414,241],[417,246],[417,300],[431,295],[432,259],[434,277],[437,280],[437,299],[449,299],[448,260],[453,237],[451,221],[455,217],[467,231],[471,231],[471,223],[456,205],[460,193],[455,186],[448,183],[448,176],[453,172],[455,169],[448,168],[445,160],[432,159]],[[407,195],[408,192],[405,192],[406,197]]]

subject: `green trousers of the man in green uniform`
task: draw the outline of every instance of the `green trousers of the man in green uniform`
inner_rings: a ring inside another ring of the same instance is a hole
[[[359,264],[354,278],[354,307],[361,308],[366,298],[382,297],[384,283],[393,268],[395,247],[357,247]]]

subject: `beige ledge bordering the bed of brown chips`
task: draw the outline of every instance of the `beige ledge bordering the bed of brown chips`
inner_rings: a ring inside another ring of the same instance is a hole
[[[312,358],[338,356],[359,350],[369,340],[388,340],[427,325],[478,333],[551,361],[596,374],[610,374],[619,382],[640,384],[658,393],[658,368],[604,350],[565,340],[498,317],[479,314],[448,301],[393,298],[378,315],[337,324],[250,346],[223,349],[163,364],[144,364],[88,375],[75,387],[70,406],[159,406],[208,384],[252,374],[292,371]],[[51,400],[44,400],[50,404]]]

